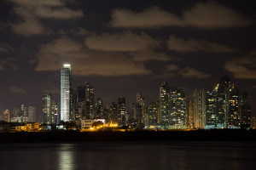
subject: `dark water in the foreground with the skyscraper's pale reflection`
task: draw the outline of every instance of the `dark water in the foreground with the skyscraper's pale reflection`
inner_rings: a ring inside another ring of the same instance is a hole
[[[251,142],[0,144],[0,169],[256,169]]]

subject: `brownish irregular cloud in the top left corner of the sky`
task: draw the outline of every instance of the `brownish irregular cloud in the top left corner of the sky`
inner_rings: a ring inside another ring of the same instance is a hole
[[[61,0],[10,0],[15,4],[14,13],[20,20],[9,24],[12,30],[24,36],[50,34],[52,31],[44,26],[40,19],[75,19],[84,16],[82,10],[65,7]]]

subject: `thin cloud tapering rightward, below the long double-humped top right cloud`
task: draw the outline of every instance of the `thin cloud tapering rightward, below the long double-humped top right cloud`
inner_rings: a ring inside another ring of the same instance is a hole
[[[170,36],[167,41],[167,48],[178,52],[213,52],[213,53],[229,53],[236,52],[236,49],[227,47],[216,42],[207,40],[183,39],[175,36]]]

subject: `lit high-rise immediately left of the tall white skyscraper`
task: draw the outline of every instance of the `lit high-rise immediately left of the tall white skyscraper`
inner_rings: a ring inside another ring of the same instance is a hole
[[[52,99],[50,94],[43,95],[43,117],[44,123],[53,124],[55,123],[55,114],[57,114],[57,105],[55,100]]]

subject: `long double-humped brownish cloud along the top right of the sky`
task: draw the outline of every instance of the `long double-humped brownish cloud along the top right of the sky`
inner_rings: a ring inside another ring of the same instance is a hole
[[[154,6],[141,12],[126,8],[116,8],[112,11],[112,18],[113,20],[109,23],[110,26],[123,28],[194,26],[212,29],[248,26],[254,22],[253,19],[240,14],[236,10],[212,1],[197,3],[192,8],[184,9],[182,16]]]

